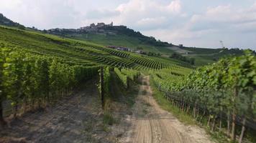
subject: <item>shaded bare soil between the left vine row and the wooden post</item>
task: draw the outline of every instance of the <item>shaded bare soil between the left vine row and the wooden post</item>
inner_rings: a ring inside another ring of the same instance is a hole
[[[53,107],[9,121],[0,142],[113,142],[104,131],[96,80]]]

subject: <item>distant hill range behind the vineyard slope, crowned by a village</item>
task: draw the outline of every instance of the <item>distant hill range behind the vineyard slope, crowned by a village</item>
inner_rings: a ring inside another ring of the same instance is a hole
[[[240,49],[206,49],[196,47],[176,46],[174,44],[160,41],[152,36],[145,36],[140,31],[134,31],[127,26],[114,26],[111,24],[91,24],[80,29],[49,29],[39,30],[25,28],[22,24],[14,22],[0,14],[0,25],[27,29],[30,31],[41,31],[47,34],[55,34],[69,39],[90,41],[103,46],[122,46],[133,50],[143,51],[148,56],[157,56],[165,59],[190,62],[196,66],[209,64],[224,56],[243,54]],[[173,56],[175,54],[175,56]],[[177,56],[178,54],[178,56]],[[180,55],[180,56],[179,56]],[[178,57],[178,59],[177,59]],[[193,59],[193,60],[191,60]]]

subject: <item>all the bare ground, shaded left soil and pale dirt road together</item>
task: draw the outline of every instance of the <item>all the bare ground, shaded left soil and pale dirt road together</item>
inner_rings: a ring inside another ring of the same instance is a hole
[[[80,92],[53,107],[10,120],[9,127],[0,130],[0,143],[211,143],[204,129],[186,126],[159,107],[152,97],[149,78],[143,77],[139,92],[127,92],[128,97],[119,89],[112,91],[120,94],[109,107],[114,124],[104,124],[96,80],[91,80],[81,86]]]

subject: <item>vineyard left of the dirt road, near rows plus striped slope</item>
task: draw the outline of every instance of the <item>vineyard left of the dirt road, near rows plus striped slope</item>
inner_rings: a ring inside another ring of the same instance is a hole
[[[99,66],[118,67],[113,72],[126,88],[138,78],[137,70],[180,67],[165,59],[6,26],[0,26],[0,47],[1,104],[8,102],[13,108],[1,109],[1,121],[68,96],[76,85],[99,73]]]

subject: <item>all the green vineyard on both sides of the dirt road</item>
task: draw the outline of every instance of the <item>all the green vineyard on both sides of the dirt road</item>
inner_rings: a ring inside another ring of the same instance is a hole
[[[1,125],[10,115],[15,119],[19,113],[53,106],[94,77],[104,109],[112,96],[113,79],[129,90],[149,74],[170,104],[212,132],[242,142],[256,131],[256,58],[252,51],[196,67],[6,26],[0,26],[0,48]]]

